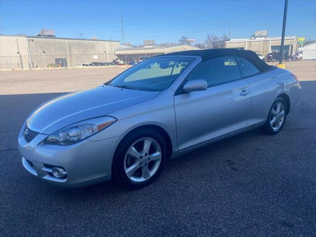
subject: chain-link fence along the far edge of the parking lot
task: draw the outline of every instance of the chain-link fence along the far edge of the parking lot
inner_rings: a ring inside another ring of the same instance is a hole
[[[256,52],[256,51],[255,51]],[[275,50],[265,55],[256,52],[265,62],[277,62],[280,52]],[[315,55],[315,50],[304,50],[305,54]],[[51,68],[81,68],[81,67],[115,67],[131,66],[142,57],[155,55],[115,55],[115,53],[89,53],[89,54],[54,54],[49,55],[42,52],[40,55],[0,56],[0,70],[29,70],[29,69],[51,69]],[[146,57],[146,58],[147,58]],[[308,59],[313,59],[308,58]],[[303,52],[283,51],[284,61],[304,60]],[[315,60],[315,59],[314,59]],[[93,65],[92,65],[93,64]]]

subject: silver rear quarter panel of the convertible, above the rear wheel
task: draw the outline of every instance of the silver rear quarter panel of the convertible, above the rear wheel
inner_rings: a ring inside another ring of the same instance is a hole
[[[275,68],[247,80],[252,95],[249,126],[266,121],[272,103],[280,94],[287,94],[290,97],[291,109],[299,103],[300,85],[287,70]]]

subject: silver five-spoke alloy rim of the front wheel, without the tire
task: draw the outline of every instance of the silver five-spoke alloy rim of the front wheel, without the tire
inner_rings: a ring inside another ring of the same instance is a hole
[[[153,138],[141,138],[127,150],[124,158],[126,176],[134,182],[143,182],[151,178],[161,163],[161,148]]]

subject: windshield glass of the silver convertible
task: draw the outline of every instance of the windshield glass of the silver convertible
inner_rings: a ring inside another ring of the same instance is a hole
[[[150,58],[126,70],[109,85],[147,91],[167,89],[195,58],[162,57]]]

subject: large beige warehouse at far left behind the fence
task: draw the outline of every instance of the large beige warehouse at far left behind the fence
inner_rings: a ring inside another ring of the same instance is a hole
[[[41,36],[0,36],[0,69],[75,67],[112,62],[120,47],[115,40],[84,40]]]

